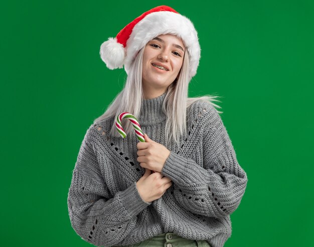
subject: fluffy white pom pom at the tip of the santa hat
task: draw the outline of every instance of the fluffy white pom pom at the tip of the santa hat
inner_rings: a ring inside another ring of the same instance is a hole
[[[125,57],[124,47],[117,42],[114,37],[109,37],[107,41],[100,45],[100,57],[109,69],[122,68]]]

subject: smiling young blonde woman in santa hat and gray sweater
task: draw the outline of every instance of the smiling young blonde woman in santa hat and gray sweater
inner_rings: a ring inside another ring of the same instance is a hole
[[[223,246],[247,175],[216,96],[188,97],[200,59],[193,23],[152,8],[100,55],[110,69],[124,65],[127,80],[82,141],[68,194],[72,227],[96,246]],[[115,119],[125,111],[145,142],[125,119],[121,138]]]

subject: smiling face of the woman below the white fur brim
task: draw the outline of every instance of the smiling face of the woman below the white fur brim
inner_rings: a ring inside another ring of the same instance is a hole
[[[146,44],[142,67],[145,98],[159,96],[167,90],[180,72],[184,52],[182,39],[172,34],[159,35]]]

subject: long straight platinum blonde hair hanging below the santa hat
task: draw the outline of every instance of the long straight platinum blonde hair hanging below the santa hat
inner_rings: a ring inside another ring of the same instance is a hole
[[[142,60],[144,49],[145,46],[139,50],[134,61],[132,62],[124,88],[108,105],[106,111],[94,120],[94,123],[99,124],[104,119],[110,118],[112,116],[114,116],[114,119],[116,119],[116,117],[123,111],[131,112],[136,117],[139,115],[141,102],[143,100]],[[183,64],[179,73],[178,80],[175,80],[168,87],[166,97],[162,105],[163,112],[165,112],[167,115],[165,127],[166,143],[174,140],[177,145],[179,145],[180,135],[187,134],[186,111],[191,104],[197,100],[204,100],[208,101],[213,106],[221,108],[219,105],[213,103],[213,101],[221,102],[220,100],[216,99],[219,96],[204,95],[193,98],[188,97],[188,86],[190,82],[189,55],[184,55]],[[218,110],[217,112],[222,113],[222,111]],[[123,129],[127,135],[134,132],[130,121],[125,121]],[[115,120],[113,121],[109,135],[120,137],[120,134],[115,127]]]

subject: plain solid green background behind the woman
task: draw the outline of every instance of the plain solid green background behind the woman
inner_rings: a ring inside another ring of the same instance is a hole
[[[202,52],[189,96],[221,96],[248,175],[225,246],[313,246],[313,1],[8,2],[0,10],[1,246],[91,246],[71,227],[68,189],[88,126],[126,76],[105,66],[100,44],[162,4],[195,24]]]

